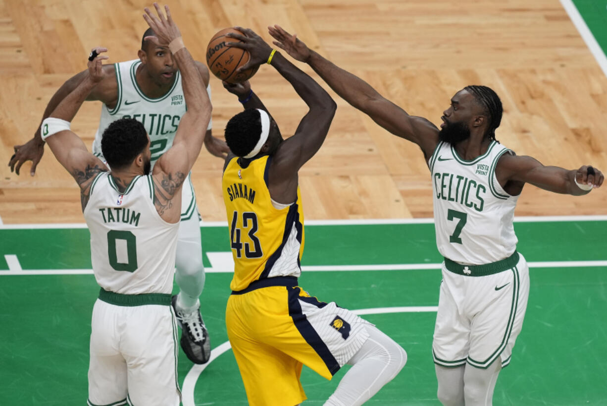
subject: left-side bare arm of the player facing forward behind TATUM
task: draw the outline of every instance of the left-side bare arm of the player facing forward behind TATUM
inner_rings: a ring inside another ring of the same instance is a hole
[[[86,100],[100,100],[107,105],[112,105],[117,101],[117,89],[118,84],[116,83],[114,77],[114,65],[108,64],[103,65],[103,69],[106,73],[104,75],[103,81],[98,83],[97,86],[91,89],[89,95],[87,95]],[[44,154],[44,141],[41,138],[41,128],[42,121],[47,117],[50,117],[50,114],[55,111],[59,103],[61,103],[67,95],[71,94],[78,85],[84,80],[84,78],[89,76],[88,69],[80,72],[79,74],[74,75],[69,78],[61,87],[55,92],[53,97],[50,98],[49,104],[44,109],[44,114],[42,114],[42,120],[38,129],[34,133],[32,139],[23,145],[15,145],[13,148],[15,149],[15,154],[10,158],[8,162],[8,166],[11,171],[15,171],[16,174],[19,174],[21,170],[21,166],[31,160],[32,168],[30,169],[30,175],[34,176],[36,173],[36,167],[38,167],[38,163],[42,159],[42,154]]]

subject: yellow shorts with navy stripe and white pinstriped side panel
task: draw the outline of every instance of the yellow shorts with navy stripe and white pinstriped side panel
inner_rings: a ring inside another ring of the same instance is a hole
[[[367,340],[368,324],[334,302],[310,297],[294,277],[269,278],[232,292],[226,327],[249,405],[305,401],[302,365],[331,379]]]

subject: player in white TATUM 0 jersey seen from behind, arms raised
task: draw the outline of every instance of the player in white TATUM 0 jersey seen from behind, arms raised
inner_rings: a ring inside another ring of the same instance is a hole
[[[42,138],[80,186],[101,286],[91,322],[89,405],[180,404],[171,291],[181,188],[200,153],[211,101],[169,8],[165,18],[154,6],[158,17],[145,9],[157,33],[152,40],[171,49],[188,112],[153,174],[150,138],[137,120],[120,119],[104,131],[101,149],[111,171],[70,131],[81,104],[107,75],[101,65],[107,57],[97,56],[105,48],[93,49],[86,75],[42,122]]]

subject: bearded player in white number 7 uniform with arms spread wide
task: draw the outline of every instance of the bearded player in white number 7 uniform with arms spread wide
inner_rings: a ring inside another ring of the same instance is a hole
[[[421,148],[432,173],[436,245],[445,258],[432,344],[438,398],[449,406],[492,404],[529,294],[529,269],[513,227],[518,196],[526,183],[586,194],[603,184],[603,174],[590,166],[545,167],[497,142],[502,106],[486,86],[458,91],[439,130],[279,26],[269,29],[274,44],[308,63],[348,103]]]

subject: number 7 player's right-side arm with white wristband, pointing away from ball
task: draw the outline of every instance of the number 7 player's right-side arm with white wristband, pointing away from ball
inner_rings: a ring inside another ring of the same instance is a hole
[[[580,196],[588,194],[593,188],[601,187],[605,177],[591,166],[582,166],[577,170],[560,167],[546,167],[530,156],[504,154],[496,168],[500,184],[507,182],[529,183],[554,193]]]

